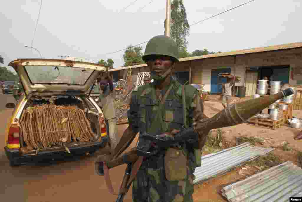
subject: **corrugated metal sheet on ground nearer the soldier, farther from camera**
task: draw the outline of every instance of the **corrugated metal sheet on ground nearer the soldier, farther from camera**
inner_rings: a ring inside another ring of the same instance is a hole
[[[194,184],[224,174],[234,167],[263,156],[272,150],[273,148],[255,147],[246,142],[236,147],[202,156],[201,167],[197,167],[194,172],[196,177]]]

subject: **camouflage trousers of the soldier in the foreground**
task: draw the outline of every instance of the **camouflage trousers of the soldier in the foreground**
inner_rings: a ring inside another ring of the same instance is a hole
[[[146,164],[144,161],[133,181],[133,202],[193,202],[193,175],[189,171],[186,180],[171,182],[165,178],[164,166]]]

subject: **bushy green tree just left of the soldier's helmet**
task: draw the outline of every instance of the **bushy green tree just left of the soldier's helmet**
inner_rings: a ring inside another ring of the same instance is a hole
[[[123,55],[124,67],[144,64],[142,49],[141,46],[132,47],[132,45],[129,45]]]

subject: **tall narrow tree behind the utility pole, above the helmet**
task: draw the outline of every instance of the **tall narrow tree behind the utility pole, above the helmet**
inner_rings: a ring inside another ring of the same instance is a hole
[[[187,36],[189,35],[189,29],[190,25],[182,0],[173,0],[171,4],[170,37],[176,42],[180,57],[188,57],[185,53],[187,52]]]

